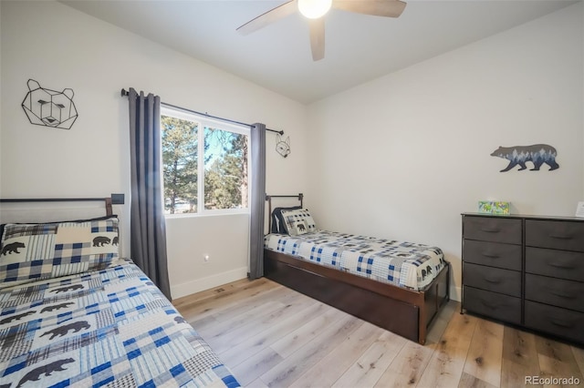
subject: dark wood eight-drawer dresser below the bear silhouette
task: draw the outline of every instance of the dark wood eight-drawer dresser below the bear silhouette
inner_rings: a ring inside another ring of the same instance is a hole
[[[584,343],[584,219],[463,214],[461,312]]]

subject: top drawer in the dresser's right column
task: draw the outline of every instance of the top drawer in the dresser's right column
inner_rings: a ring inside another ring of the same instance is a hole
[[[526,220],[526,245],[584,252],[584,222]]]

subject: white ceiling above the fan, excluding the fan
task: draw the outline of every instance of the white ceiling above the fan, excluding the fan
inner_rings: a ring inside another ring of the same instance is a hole
[[[325,16],[325,58],[313,62],[301,15],[248,36],[235,32],[285,2],[61,1],[307,104],[576,3],[410,0],[396,19],[333,9]]]

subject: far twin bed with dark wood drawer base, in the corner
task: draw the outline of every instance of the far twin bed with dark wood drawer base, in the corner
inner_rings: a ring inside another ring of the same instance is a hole
[[[272,209],[273,198],[300,206]],[[424,343],[449,300],[449,263],[437,247],[318,230],[303,195],[266,196],[266,278]]]

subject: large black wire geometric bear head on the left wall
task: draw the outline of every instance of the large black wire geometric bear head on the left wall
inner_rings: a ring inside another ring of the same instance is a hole
[[[22,102],[28,121],[37,126],[70,129],[78,117],[73,90],[61,92],[41,87],[34,79],[27,82],[28,93]]]

